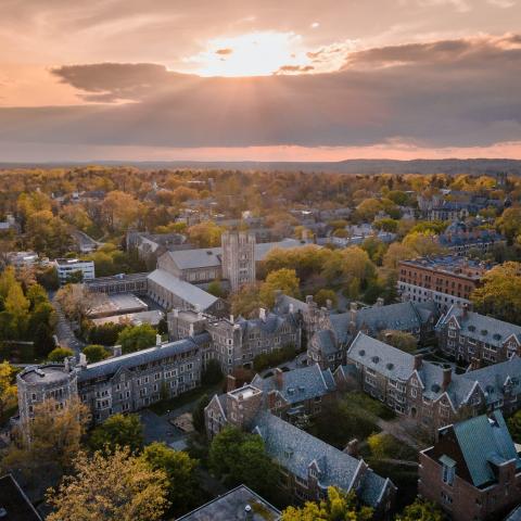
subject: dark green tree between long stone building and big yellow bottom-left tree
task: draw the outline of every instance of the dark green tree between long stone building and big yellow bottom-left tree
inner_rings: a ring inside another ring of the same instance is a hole
[[[114,450],[128,447],[130,452],[143,448],[143,425],[138,415],[117,414],[96,427],[90,435],[89,445],[93,450]]]

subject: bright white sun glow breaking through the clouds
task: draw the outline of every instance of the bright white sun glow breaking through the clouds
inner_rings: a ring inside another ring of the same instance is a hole
[[[300,35],[256,31],[212,39],[186,62],[200,76],[267,76],[281,67],[306,67],[309,60]]]

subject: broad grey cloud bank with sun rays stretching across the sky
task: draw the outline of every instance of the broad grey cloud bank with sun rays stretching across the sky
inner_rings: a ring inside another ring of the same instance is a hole
[[[190,148],[516,141],[518,42],[508,36],[371,49],[352,54],[335,73],[255,78],[201,78],[154,64],[66,66],[53,74],[89,99],[134,102],[2,109],[0,142]]]

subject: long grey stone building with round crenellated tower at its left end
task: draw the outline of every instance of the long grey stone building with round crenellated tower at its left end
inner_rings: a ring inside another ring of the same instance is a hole
[[[201,383],[202,353],[207,333],[87,365],[47,364],[28,367],[16,377],[22,423],[47,398],[63,404],[79,396],[94,423],[116,412],[134,412],[162,398],[177,396]]]

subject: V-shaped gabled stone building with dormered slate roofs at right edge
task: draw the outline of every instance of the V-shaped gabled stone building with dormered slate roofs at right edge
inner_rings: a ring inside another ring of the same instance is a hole
[[[435,435],[437,429],[496,409],[519,408],[521,358],[462,374],[358,333],[347,365],[360,389]]]

